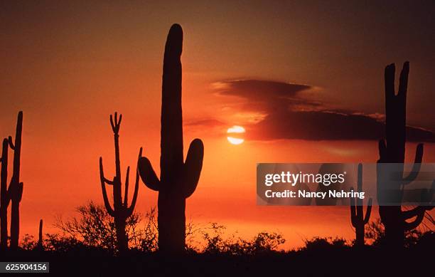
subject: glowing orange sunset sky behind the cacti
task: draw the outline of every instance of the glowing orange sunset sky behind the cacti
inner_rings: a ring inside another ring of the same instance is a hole
[[[398,72],[410,61],[409,134],[426,142],[424,162],[435,162],[433,1],[165,2],[1,2],[1,137],[15,134],[18,110],[24,118],[21,235],[36,234],[41,218],[55,231],[55,216],[102,203],[98,159],[111,177],[114,111],[123,115],[123,174],[139,147],[159,170],[172,23],[184,31],[184,145],[194,137],[205,145],[187,200],[193,222],[241,236],[279,230],[288,247],[312,236],[353,239],[348,207],[257,206],[256,164],[375,162],[389,63]],[[226,139],[232,125],[246,129],[241,145]],[[141,183],[136,211],[156,200]]]

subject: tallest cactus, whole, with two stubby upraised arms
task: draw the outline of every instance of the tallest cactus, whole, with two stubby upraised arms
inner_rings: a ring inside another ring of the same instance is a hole
[[[186,198],[195,192],[203,167],[203,142],[190,143],[183,162],[181,110],[181,51],[183,30],[174,24],[166,39],[161,97],[160,179],[146,157],[139,159],[139,174],[147,187],[159,192],[159,251],[183,253],[186,246]]]

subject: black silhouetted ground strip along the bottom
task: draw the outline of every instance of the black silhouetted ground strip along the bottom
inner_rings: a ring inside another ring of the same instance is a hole
[[[107,274],[141,276],[426,276],[432,271],[434,234],[401,251],[365,246],[353,248],[338,241],[313,239],[304,249],[250,255],[195,254],[162,256],[129,251],[112,256],[102,249],[68,252],[11,251],[2,261],[50,261],[56,275]],[[423,275],[425,274],[425,275]]]

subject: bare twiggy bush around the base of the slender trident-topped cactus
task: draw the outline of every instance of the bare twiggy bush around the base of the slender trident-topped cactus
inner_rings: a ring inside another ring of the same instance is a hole
[[[116,229],[114,218],[109,216],[102,205],[89,202],[77,207],[78,217],[64,221],[58,218],[55,226],[60,234],[45,234],[43,248],[47,251],[68,252],[77,249],[101,249],[109,253],[117,253]],[[144,221],[144,228],[139,224]],[[158,232],[156,227],[156,212],[152,208],[145,214],[144,220],[138,213],[127,218],[126,233],[129,246],[144,252],[156,251]],[[23,236],[21,249],[36,249],[37,241],[31,235]]]

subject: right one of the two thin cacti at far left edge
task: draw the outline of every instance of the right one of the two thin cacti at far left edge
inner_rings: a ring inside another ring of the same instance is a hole
[[[20,202],[23,197],[23,183],[20,182],[20,163],[21,163],[21,134],[23,132],[23,112],[18,113],[16,122],[15,142],[9,136],[9,147],[14,150],[14,167],[12,172],[11,184],[8,189],[8,197],[11,199],[11,249],[18,247],[20,234]]]

